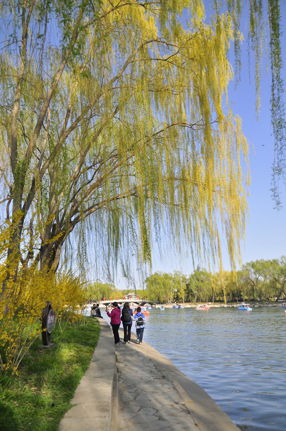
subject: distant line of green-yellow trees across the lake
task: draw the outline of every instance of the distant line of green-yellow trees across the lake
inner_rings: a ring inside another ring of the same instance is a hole
[[[262,301],[286,298],[286,256],[247,262],[239,271],[212,274],[199,266],[190,275],[155,272],[145,280],[145,289],[135,289],[140,299],[150,302]],[[89,284],[87,297],[94,300],[122,298],[129,290],[118,290],[113,284]]]

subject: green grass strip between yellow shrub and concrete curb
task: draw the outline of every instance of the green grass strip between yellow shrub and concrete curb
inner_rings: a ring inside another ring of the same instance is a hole
[[[97,319],[86,325],[53,329],[53,349],[36,340],[22,360],[18,376],[0,374],[0,430],[56,431],[70,408],[99,338]]]

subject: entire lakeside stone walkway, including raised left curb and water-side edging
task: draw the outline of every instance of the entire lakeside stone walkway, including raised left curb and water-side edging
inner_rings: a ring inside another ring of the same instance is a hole
[[[59,431],[239,431],[198,384],[148,344],[114,345],[101,331],[84,377]],[[123,330],[120,330],[121,340]]]

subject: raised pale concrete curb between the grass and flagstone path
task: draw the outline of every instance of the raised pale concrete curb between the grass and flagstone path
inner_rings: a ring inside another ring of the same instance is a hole
[[[71,400],[74,406],[65,413],[59,423],[59,431],[110,430],[116,373],[115,347],[109,324],[105,319],[98,320],[100,334],[96,349]]]

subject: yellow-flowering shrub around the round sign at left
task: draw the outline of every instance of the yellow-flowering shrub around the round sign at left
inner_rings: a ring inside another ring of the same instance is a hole
[[[71,273],[27,269],[9,281],[0,302],[0,370],[17,373],[22,358],[41,336],[42,310],[52,303],[55,324],[82,321],[82,283]],[[52,333],[53,334],[53,333]]]

